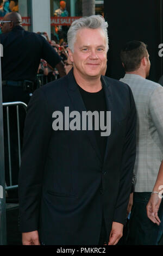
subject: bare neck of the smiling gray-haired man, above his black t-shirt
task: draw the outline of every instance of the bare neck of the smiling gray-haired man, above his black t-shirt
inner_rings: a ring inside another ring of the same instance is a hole
[[[98,77],[85,77],[76,71],[76,69],[73,70],[74,78],[76,79],[77,84],[83,89],[86,90],[86,92],[89,93],[97,93],[99,90],[102,89],[102,83],[101,83],[101,76]]]

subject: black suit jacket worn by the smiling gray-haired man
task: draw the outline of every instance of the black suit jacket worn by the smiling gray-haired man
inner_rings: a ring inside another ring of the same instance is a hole
[[[97,245],[102,210],[107,240],[124,223],[136,144],[136,111],[127,84],[101,77],[111,134],[104,162],[93,131],[54,131],[54,111],[85,111],[73,70],[35,91],[28,105],[19,178],[20,228],[47,245]]]

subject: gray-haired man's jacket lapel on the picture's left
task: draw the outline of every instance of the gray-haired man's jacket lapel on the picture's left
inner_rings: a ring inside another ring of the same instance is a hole
[[[67,78],[68,78],[68,87],[67,87],[68,95],[70,96],[74,110],[78,111],[82,116],[82,111],[86,111],[86,108],[85,108],[82,96],[80,95],[77,82],[73,76],[73,69],[68,73]],[[102,162],[101,153],[99,151],[99,148],[96,142],[95,132],[85,131],[85,133],[86,133],[86,136],[89,138],[93,149],[96,151],[96,154],[99,160]]]

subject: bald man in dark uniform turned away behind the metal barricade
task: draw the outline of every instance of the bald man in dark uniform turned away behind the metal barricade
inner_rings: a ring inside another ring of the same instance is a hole
[[[2,94],[3,102],[22,101],[28,104],[35,88],[37,70],[40,59],[45,59],[53,68],[56,67],[60,76],[66,75],[64,63],[58,53],[41,35],[25,31],[22,27],[20,14],[12,12],[4,16],[1,23],[3,34],[0,35],[3,45],[2,60]],[[20,113],[21,140],[25,114]],[[17,124],[14,109],[10,110],[11,168],[12,185],[18,179]],[[5,173],[9,185],[9,164],[7,145],[7,117],[4,111],[5,141]],[[9,197],[17,197],[17,193],[9,191]]]

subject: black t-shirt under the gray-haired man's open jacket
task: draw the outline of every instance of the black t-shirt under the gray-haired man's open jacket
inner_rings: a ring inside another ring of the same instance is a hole
[[[102,88],[97,93],[89,93],[83,90],[80,86],[78,86],[80,94],[82,95],[82,99],[86,108],[86,111],[104,111],[105,112],[105,125],[106,125],[106,101],[105,101],[105,94],[104,89]],[[95,119],[92,119],[93,121],[93,130],[95,132],[97,145],[99,147],[99,150],[101,152],[102,159],[104,160],[105,156],[105,148],[106,148],[106,137],[101,136],[101,127],[99,124],[99,130],[95,130]]]

